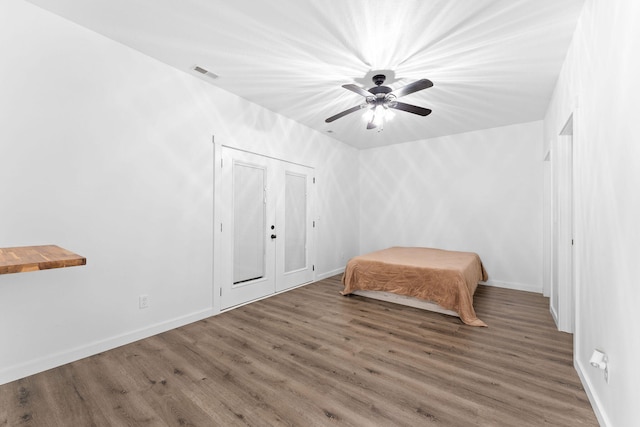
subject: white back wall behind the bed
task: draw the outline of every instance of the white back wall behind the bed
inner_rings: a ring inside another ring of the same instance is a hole
[[[477,252],[490,284],[542,291],[542,122],[360,152],[360,249]]]

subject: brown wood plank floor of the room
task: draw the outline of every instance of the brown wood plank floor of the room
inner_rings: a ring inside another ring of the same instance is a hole
[[[343,297],[339,277],[0,386],[0,426],[595,426],[548,300],[488,328]]]

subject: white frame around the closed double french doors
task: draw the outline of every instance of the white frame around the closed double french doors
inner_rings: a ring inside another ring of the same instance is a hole
[[[238,304],[235,305],[231,308],[228,309],[222,309],[221,306],[221,291],[222,291],[222,281],[223,279],[223,269],[220,267],[221,265],[223,265],[224,263],[224,259],[223,259],[223,251],[224,248],[222,247],[222,239],[220,238],[220,233],[222,231],[222,218],[224,217],[224,212],[223,212],[223,208],[224,208],[224,202],[222,200],[222,192],[220,191],[219,186],[221,185],[220,182],[220,162],[222,161],[222,149],[232,149],[232,150],[236,150],[236,151],[240,151],[240,152],[245,152],[245,153],[249,153],[249,154],[253,154],[253,155],[257,155],[257,156],[262,156],[268,159],[273,159],[273,160],[277,160],[280,162],[285,162],[285,163],[289,163],[289,164],[293,164],[293,165],[298,165],[298,166],[303,166],[306,168],[310,168],[315,172],[315,167],[313,166],[309,166],[309,165],[305,165],[302,163],[298,163],[298,162],[294,162],[291,160],[287,160],[287,159],[283,159],[283,158],[278,158],[278,157],[274,157],[268,154],[264,154],[264,153],[260,153],[257,151],[251,151],[251,150],[247,150],[247,149],[243,149],[243,148],[238,148],[238,147],[234,147],[232,145],[228,145],[228,144],[222,144],[222,143],[218,143],[215,141],[215,136],[213,138],[213,145],[214,145],[214,173],[213,173],[213,184],[214,184],[214,207],[213,207],[213,264],[212,264],[212,268],[213,268],[213,284],[212,284],[212,307],[213,307],[213,313],[217,314],[220,313],[222,311],[227,311],[227,310],[232,310],[234,308],[238,308],[241,307],[243,305],[249,304],[251,302],[255,302],[255,301],[259,301],[260,299],[264,299],[264,298],[269,298],[270,296],[273,295],[277,295],[278,293],[281,292],[287,292],[289,290],[295,289],[299,286],[304,286],[304,285],[308,285],[309,283],[315,282],[317,279],[317,271],[315,269],[315,264],[316,264],[316,254],[317,254],[317,238],[316,238],[316,229],[317,227],[315,227],[315,224],[317,223],[317,219],[315,219],[313,221],[314,226],[311,228],[310,232],[309,232],[309,259],[310,259],[310,263],[313,266],[313,270],[312,270],[312,277],[311,277],[311,281],[310,282],[306,282],[297,286],[293,286],[291,288],[285,289],[283,291],[278,291],[275,292],[274,294],[270,294],[267,295],[263,298],[258,298],[252,301],[248,301],[242,304]],[[315,173],[314,173],[315,176]],[[313,178],[313,183],[315,184],[315,177]],[[316,187],[315,185],[311,186],[311,191],[309,194],[309,209],[311,210],[311,218],[316,218],[315,216],[315,200],[316,200]]]

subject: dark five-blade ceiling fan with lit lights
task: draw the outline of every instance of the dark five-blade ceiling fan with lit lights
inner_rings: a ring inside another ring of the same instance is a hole
[[[431,80],[421,79],[394,91],[388,86],[382,86],[382,83],[384,83],[386,78],[387,77],[384,74],[376,74],[373,76],[372,80],[376,86],[369,90],[362,89],[360,86],[356,86],[354,84],[342,85],[343,88],[364,96],[366,102],[349,108],[335,116],[331,116],[326,119],[325,122],[331,123],[340,117],[344,117],[347,114],[351,114],[363,108],[369,108],[369,111],[371,111],[369,114],[370,117],[367,117],[367,129],[375,129],[378,126],[381,126],[389,108],[418,114],[420,116],[427,116],[431,114],[431,110],[428,108],[422,108],[416,105],[405,104],[404,102],[397,101],[397,98],[400,98],[401,96],[430,88],[433,86]]]

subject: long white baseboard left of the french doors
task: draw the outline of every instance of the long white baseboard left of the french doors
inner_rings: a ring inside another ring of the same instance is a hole
[[[68,351],[59,352],[45,357],[29,360],[18,365],[2,368],[0,369],[0,385],[19,380],[29,375],[34,375],[48,369],[66,365],[67,363],[71,363],[85,357],[93,356],[94,354],[111,350],[125,344],[130,344],[132,342],[141,340],[143,338],[148,338],[150,336],[157,335],[171,329],[179,328],[180,326],[184,326],[189,323],[197,322],[198,320],[211,317],[213,314],[214,313],[211,309],[198,311],[185,316],[180,316],[174,319],[166,320],[164,322],[156,323],[135,331],[116,335],[111,338],[95,341]]]

